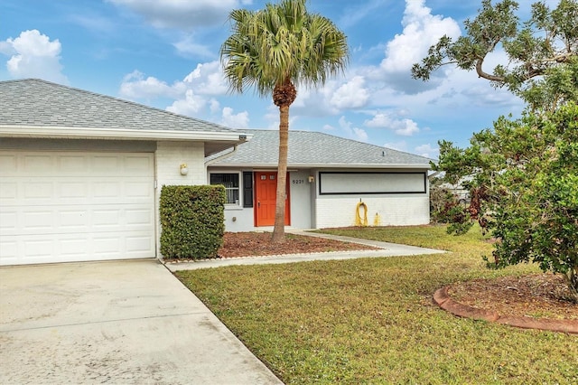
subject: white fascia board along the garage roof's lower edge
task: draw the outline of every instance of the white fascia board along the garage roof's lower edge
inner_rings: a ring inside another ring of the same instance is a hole
[[[151,130],[126,128],[81,128],[81,127],[39,127],[1,126],[0,136],[5,137],[53,137],[81,139],[159,139],[191,141],[247,141],[252,134],[239,132]]]

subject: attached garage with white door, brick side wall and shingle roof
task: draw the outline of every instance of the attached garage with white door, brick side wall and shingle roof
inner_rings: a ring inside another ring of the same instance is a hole
[[[206,184],[205,157],[247,140],[38,79],[0,81],[0,100],[3,266],[162,257],[162,186]]]

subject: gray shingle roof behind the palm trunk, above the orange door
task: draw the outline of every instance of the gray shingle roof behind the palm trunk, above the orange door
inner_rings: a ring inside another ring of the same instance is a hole
[[[246,130],[251,140],[232,155],[215,160],[217,166],[274,166],[277,164],[279,133],[276,130]],[[218,157],[217,154],[213,158]],[[430,159],[368,145],[339,136],[312,131],[289,131],[287,165],[298,166],[387,166],[429,168]]]

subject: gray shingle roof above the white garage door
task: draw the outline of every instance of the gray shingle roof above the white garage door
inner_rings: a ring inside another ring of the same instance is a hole
[[[210,122],[45,80],[0,81],[0,127],[235,132]]]

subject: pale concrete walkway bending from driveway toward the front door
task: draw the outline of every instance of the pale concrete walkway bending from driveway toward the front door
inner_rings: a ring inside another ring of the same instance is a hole
[[[203,259],[191,262],[166,262],[165,266],[169,268],[171,271],[179,271],[179,270],[193,270],[197,268],[219,268],[222,266],[236,266],[236,265],[281,264],[281,263],[304,262],[309,260],[402,257],[402,256],[417,256],[424,254],[440,254],[447,252],[438,249],[418,248],[415,246],[400,245],[397,243],[342,237],[337,235],[309,232],[305,230],[287,230],[287,232],[291,232],[293,234],[307,235],[310,237],[337,239],[346,242],[359,243],[362,245],[373,246],[379,249],[359,250],[359,251],[334,251],[334,252],[312,253],[312,254],[288,254],[280,256],[263,256],[263,257]]]

